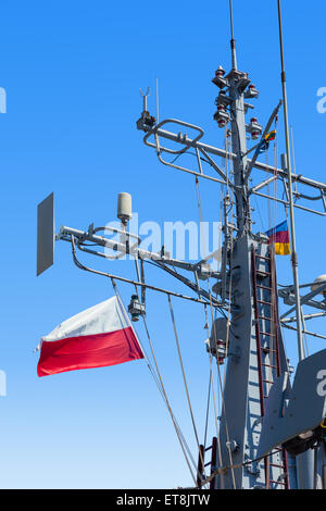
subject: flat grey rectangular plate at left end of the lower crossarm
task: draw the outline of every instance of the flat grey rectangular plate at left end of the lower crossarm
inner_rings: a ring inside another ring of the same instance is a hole
[[[50,194],[37,207],[37,270],[36,275],[54,262],[54,195]]]

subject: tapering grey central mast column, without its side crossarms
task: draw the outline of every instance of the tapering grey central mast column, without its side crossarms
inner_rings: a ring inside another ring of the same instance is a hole
[[[230,124],[234,159],[234,184],[237,212],[238,235],[229,253],[229,278],[231,279],[231,327],[229,335],[229,353],[226,379],[223,396],[223,413],[221,419],[221,450],[223,465],[236,465],[221,475],[216,487],[220,488],[253,488],[269,485],[269,481],[276,482],[284,477],[285,463],[281,453],[260,462],[255,459],[260,438],[261,415],[264,395],[268,392],[267,372],[260,374],[264,367],[272,367],[271,346],[274,335],[271,322],[265,320],[261,331],[256,328],[255,300],[256,289],[253,287],[252,275],[255,269],[260,271],[261,286],[265,287],[265,294],[261,296],[261,316],[272,315],[271,306],[273,301],[272,285],[268,291],[268,278],[271,267],[266,267],[268,261],[268,246],[266,240],[258,240],[252,235],[250,223],[250,200],[248,189],[248,159],[247,159],[247,127],[244,90],[250,83],[248,75],[237,70],[236,43],[233,29],[233,5],[230,3],[231,20],[231,61],[233,70],[226,77],[229,84],[228,98],[230,105]],[[253,119],[251,124],[255,124]],[[254,128],[254,127],[253,127]],[[258,130],[261,128],[255,127]],[[258,338],[260,337],[260,338]],[[274,337],[275,338],[275,337]],[[258,342],[265,344],[264,361],[260,361]],[[283,349],[281,335],[278,335],[279,358],[281,370],[286,369],[286,360]],[[268,348],[269,346],[269,348]],[[271,370],[272,371],[272,370]],[[262,385],[260,387],[260,379]],[[272,381],[269,376],[269,381]],[[263,394],[263,396],[262,396]],[[275,465],[275,466],[274,466]],[[272,474],[272,475],[271,475]],[[268,481],[266,481],[268,479]],[[280,488],[280,486],[276,486]]]

